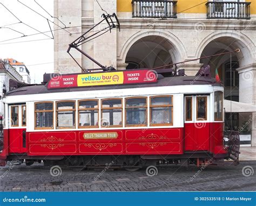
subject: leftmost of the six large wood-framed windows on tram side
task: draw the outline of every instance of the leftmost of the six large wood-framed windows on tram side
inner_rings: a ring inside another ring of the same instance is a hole
[[[35,129],[53,128],[53,102],[35,103]]]

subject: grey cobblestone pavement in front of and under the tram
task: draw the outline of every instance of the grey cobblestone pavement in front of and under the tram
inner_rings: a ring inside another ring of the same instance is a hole
[[[248,167],[250,166],[250,167]],[[244,170],[243,170],[244,168]],[[57,168],[58,169],[58,168]],[[111,169],[111,168],[110,168]],[[255,191],[256,161],[230,162],[222,166],[197,168],[163,166],[156,176],[147,176],[145,168],[126,170],[81,170],[62,168],[62,174],[43,164],[0,168],[1,191]],[[253,174],[253,171],[254,174]],[[244,175],[243,175],[244,174]],[[58,176],[53,176],[58,175]],[[249,176],[250,175],[250,176]],[[99,178],[98,178],[99,177]]]

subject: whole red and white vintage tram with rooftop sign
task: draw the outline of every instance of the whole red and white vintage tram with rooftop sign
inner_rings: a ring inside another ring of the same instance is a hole
[[[3,98],[1,163],[90,167],[113,161],[139,168],[228,159],[224,87],[182,73],[45,74],[42,85],[11,90]]]

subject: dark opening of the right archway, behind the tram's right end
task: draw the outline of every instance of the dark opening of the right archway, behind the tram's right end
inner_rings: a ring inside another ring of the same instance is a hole
[[[225,86],[224,99],[232,101],[239,101],[239,74],[237,68],[251,63],[250,50],[239,39],[219,37],[208,43],[201,53],[201,57],[206,57],[236,49],[240,49],[240,52],[200,60],[200,63],[211,66],[212,77],[215,77],[215,71],[218,71],[220,80]],[[239,128],[239,125],[245,119],[246,116],[239,113],[226,113],[226,127],[230,127],[228,129]]]

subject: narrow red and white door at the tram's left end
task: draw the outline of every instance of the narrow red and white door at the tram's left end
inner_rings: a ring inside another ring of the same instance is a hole
[[[10,153],[26,152],[26,105],[9,106]]]

